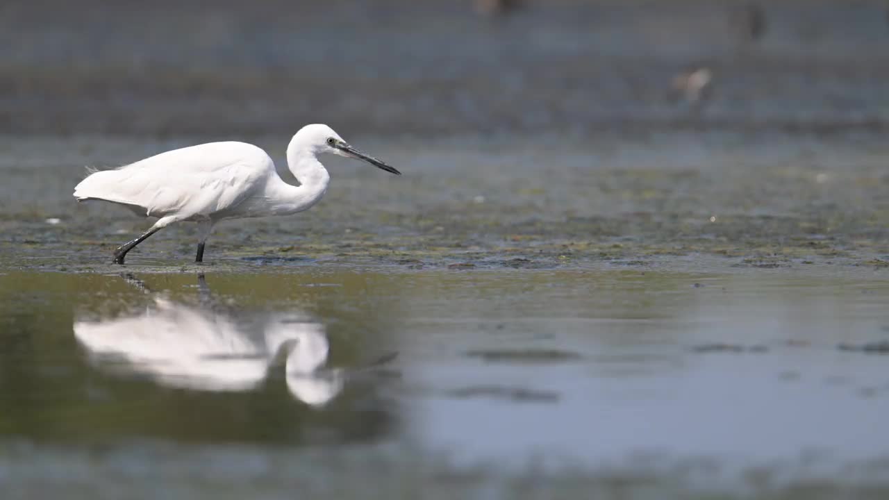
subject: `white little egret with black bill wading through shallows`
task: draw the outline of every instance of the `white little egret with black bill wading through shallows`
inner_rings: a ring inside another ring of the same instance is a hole
[[[284,182],[262,149],[244,142],[210,142],[173,149],[114,170],[93,172],[76,185],[77,201],[99,199],[157,217],[138,238],[117,248],[114,262],[173,222],[198,222],[195,262],[204,261],[204,243],[224,219],[289,215],[315,205],[330,181],[318,161],[321,153],[362,159],[389,173],[395,168],[348,145],[327,125],[306,125],[287,146],[287,165],[300,181]]]

